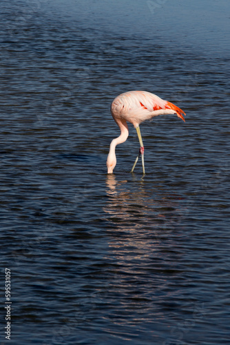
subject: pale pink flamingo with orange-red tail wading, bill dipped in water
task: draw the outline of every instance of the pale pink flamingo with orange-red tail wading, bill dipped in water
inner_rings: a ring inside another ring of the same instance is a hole
[[[124,92],[112,101],[111,112],[114,121],[121,130],[121,135],[113,139],[110,144],[109,154],[107,157],[107,173],[112,174],[116,166],[115,148],[122,144],[129,136],[127,121],[134,125],[140,142],[140,150],[131,172],[134,172],[136,163],[141,155],[143,175],[145,175],[144,163],[144,146],[140,135],[140,123],[158,115],[176,114],[180,119],[185,121],[182,114],[186,115],[183,110],[169,101],[147,91],[129,91]]]

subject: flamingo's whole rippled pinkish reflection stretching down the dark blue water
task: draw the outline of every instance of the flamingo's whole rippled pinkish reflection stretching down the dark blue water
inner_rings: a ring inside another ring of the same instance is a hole
[[[134,303],[142,298],[143,308],[152,308],[156,319],[162,319],[162,311],[152,306],[149,289],[158,296],[158,302],[164,302],[165,298],[171,298],[171,292],[162,273],[167,275],[171,270],[180,274],[181,253],[180,250],[174,253],[178,242],[180,198],[169,195],[165,188],[149,184],[147,179],[135,180],[134,175],[123,181],[117,181],[115,175],[107,175],[106,184],[108,201],[104,211],[112,224],[112,236],[105,259],[116,263],[116,293],[133,289]],[[143,274],[147,288],[141,290],[139,282]]]

